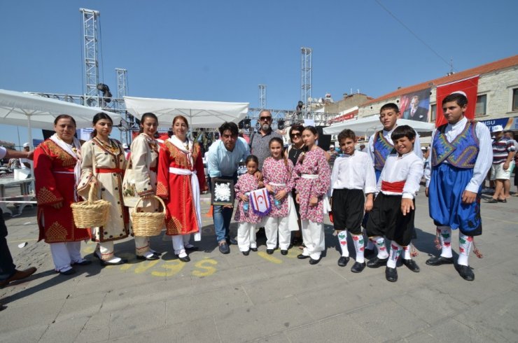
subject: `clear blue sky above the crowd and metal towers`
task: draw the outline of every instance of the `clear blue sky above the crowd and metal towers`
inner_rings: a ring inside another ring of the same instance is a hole
[[[518,1],[379,2],[456,71],[518,53]],[[83,92],[80,7],[101,13],[99,73],[113,94],[114,69],[125,68],[135,97],[256,107],[264,83],[267,107],[294,109],[302,46],[313,48],[313,97],[378,97],[449,71],[375,0],[18,0],[0,2],[0,88]],[[0,130],[18,143],[14,127]]]

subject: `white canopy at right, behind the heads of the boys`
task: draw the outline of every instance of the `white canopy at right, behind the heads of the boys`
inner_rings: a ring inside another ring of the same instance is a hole
[[[416,120],[398,119],[398,125],[408,125],[417,132],[433,131],[435,125],[433,123],[423,123]],[[323,128],[324,134],[339,134],[344,129],[353,130],[356,136],[365,136],[373,134],[377,130],[381,130],[383,125],[379,121],[378,116],[361,118],[358,120],[347,120],[342,123],[333,124]]]

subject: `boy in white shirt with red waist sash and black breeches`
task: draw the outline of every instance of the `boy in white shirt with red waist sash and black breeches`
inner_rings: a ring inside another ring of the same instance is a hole
[[[386,279],[395,282],[398,281],[396,262],[414,235],[414,199],[419,190],[424,164],[413,151],[416,133],[412,127],[396,127],[391,138],[396,153],[386,158],[377,183],[379,193],[367,221],[367,235],[376,241],[378,255],[367,263],[367,267],[386,265]],[[386,252],[384,236],[392,241],[390,255]],[[414,260],[404,259],[403,264],[412,272],[419,272]]]

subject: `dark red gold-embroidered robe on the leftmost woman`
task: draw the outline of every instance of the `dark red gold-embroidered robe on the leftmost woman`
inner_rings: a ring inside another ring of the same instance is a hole
[[[39,240],[59,243],[90,239],[90,230],[78,229],[74,225],[70,208],[75,202],[73,169],[77,161],[77,155],[70,155],[50,139],[43,141],[34,151]],[[59,202],[63,204],[60,209],[52,207]]]

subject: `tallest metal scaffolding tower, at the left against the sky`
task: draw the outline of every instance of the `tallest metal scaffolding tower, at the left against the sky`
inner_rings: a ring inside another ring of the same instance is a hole
[[[80,8],[83,15],[83,63],[85,66],[85,98],[87,106],[99,106],[99,65],[97,63],[99,26],[97,18],[99,11]]]

